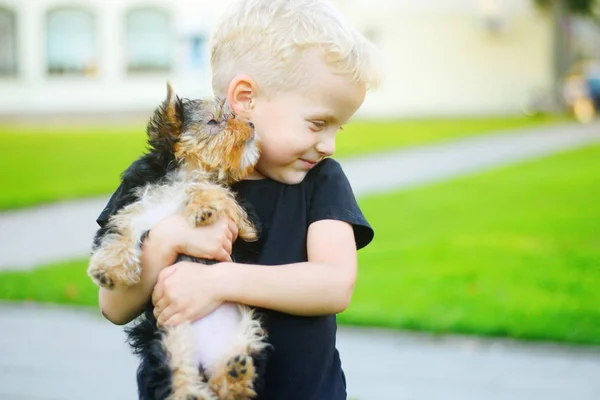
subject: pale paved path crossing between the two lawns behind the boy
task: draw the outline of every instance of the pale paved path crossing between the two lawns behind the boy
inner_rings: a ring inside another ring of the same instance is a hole
[[[342,161],[357,196],[430,183],[600,142],[600,123],[499,133]],[[0,213],[0,269],[85,257],[107,198]],[[32,251],[35,249],[35,251]]]

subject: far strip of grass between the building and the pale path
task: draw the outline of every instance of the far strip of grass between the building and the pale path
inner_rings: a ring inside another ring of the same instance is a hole
[[[346,157],[459,136],[565,121],[503,117],[355,122],[338,140]],[[120,173],[145,148],[143,125],[0,125],[0,210],[111,193]]]

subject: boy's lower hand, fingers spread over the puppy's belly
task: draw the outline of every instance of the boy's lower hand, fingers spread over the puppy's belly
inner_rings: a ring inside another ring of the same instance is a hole
[[[216,268],[185,261],[164,268],[152,292],[158,326],[192,322],[219,307]]]

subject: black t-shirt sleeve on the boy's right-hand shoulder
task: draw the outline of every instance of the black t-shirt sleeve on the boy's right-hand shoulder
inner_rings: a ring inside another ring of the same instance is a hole
[[[308,209],[308,224],[324,219],[349,223],[354,229],[356,248],[368,245],[374,231],[363,215],[350,182],[340,164],[333,159],[323,160],[312,176],[312,195]]]

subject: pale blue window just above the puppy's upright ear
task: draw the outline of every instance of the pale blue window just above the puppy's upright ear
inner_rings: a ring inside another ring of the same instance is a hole
[[[127,70],[171,69],[173,34],[169,14],[156,8],[135,9],[126,16]]]

